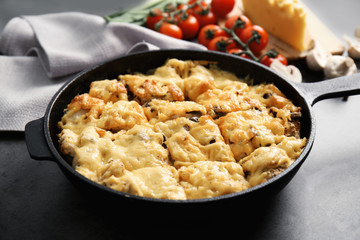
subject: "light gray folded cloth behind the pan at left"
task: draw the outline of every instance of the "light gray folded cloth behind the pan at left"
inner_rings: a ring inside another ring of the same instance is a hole
[[[51,96],[74,74],[133,51],[199,49],[128,23],[80,12],[21,16],[0,38],[0,130],[23,131],[44,115]]]

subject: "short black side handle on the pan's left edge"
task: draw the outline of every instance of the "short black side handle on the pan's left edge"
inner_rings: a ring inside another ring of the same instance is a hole
[[[44,118],[26,124],[25,141],[31,158],[35,160],[55,160],[45,139]]]

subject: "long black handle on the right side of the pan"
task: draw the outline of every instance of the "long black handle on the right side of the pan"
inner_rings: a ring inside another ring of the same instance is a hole
[[[313,106],[318,101],[360,94],[360,73],[320,82],[295,83]]]

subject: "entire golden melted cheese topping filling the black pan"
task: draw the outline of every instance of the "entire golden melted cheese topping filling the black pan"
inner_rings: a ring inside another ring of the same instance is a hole
[[[152,74],[91,83],[58,124],[60,149],[80,174],[118,191],[209,198],[290,166],[306,144],[300,110],[272,84],[170,59]]]

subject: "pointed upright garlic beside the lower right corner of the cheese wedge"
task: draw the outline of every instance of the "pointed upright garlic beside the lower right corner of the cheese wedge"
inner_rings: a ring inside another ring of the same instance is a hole
[[[331,53],[326,51],[319,42],[315,41],[314,47],[306,56],[306,64],[313,71],[322,71],[330,57]]]

